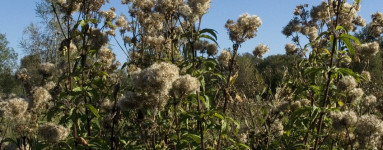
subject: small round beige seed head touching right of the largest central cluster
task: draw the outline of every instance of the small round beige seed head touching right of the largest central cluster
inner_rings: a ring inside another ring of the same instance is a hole
[[[173,92],[176,96],[181,97],[199,91],[199,86],[198,79],[187,74],[173,82]]]

